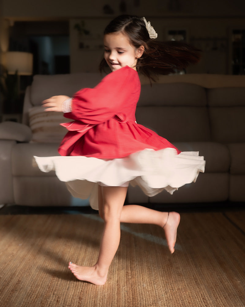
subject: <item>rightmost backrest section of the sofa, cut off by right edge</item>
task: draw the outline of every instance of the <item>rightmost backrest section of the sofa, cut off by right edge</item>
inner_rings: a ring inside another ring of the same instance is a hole
[[[212,141],[245,142],[245,87],[208,89],[207,98]]]

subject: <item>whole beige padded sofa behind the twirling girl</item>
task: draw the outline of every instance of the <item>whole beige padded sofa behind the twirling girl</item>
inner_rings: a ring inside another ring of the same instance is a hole
[[[22,123],[0,124],[0,204],[70,206],[88,204],[74,199],[54,172],[33,166],[34,155],[58,155],[66,133],[61,114],[45,117],[43,99],[69,95],[95,86],[101,76],[81,73],[35,76],[27,88]],[[129,187],[129,203],[220,203],[245,201],[245,76],[161,76],[151,87],[141,79],[137,122],[167,138],[182,151],[199,151],[205,173],[169,195],[145,196]],[[48,112],[51,113],[51,112]]]

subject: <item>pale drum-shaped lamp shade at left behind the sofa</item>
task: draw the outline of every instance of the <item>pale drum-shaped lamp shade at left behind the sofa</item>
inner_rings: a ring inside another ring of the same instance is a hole
[[[32,75],[33,55],[29,52],[8,51],[6,52],[6,68],[9,75],[18,72],[18,75]]]

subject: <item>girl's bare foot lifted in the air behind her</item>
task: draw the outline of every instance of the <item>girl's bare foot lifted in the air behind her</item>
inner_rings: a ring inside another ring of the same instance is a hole
[[[177,228],[180,222],[180,215],[177,212],[169,212],[167,220],[163,229],[165,231],[165,237],[168,243],[168,248],[171,254],[175,251],[174,246],[177,237]]]

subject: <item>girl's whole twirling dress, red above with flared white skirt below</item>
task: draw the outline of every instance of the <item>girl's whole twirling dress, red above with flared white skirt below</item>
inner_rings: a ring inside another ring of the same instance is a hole
[[[204,172],[198,152],[180,152],[152,130],[135,122],[140,95],[138,73],[123,67],[95,88],[78,91],[72,101],[69,131],[56,157],[35,157],[43,172],[55,170],[75,197],[98,209],[98,184],[130,181],[148,196],[164,189],[172,194]]]

